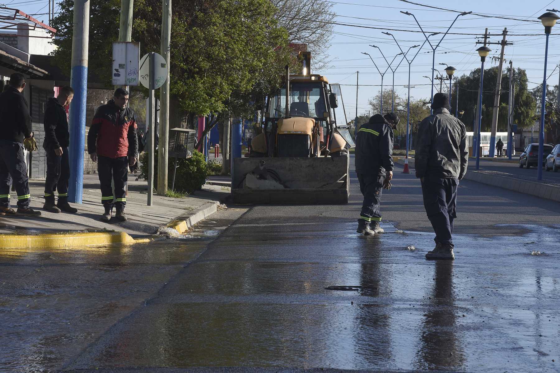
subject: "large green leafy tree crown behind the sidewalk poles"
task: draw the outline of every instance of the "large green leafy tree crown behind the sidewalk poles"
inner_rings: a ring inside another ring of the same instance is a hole
[[[268,0],[177,0],[171,22],[171,95],[174,110],[195,115],[249,110],[287,61],[287,33]],[[110,86],[112,41],[118,39],[120,2],[94,2],[90,11],[90,78]],[[70,70],[73,1],[62,0],[53,20],[59,31],[56,63]],[[141,54],[160,50],[161,1],[134,2],[134,41]],[[236,114],[236,113],[234,113]]]

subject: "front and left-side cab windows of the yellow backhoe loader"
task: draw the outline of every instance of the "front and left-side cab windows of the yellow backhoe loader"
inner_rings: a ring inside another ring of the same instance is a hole
[[[320,83],[291,83],[290,88],[290,116],[323,117],[326,108]],[[279,94],[270,97],[268,105],[270,117],[283,117],[286,110],[286,89],[280,89]]]

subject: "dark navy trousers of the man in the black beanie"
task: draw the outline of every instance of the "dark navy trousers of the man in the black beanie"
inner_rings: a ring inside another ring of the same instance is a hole
[[[422,182],[422,196],[424,208],[433,231],[436,233],[436,243],[453,245],[453,221],[457,217],[455,207],[457,202],[457,179],[440,179],[426,176]]]

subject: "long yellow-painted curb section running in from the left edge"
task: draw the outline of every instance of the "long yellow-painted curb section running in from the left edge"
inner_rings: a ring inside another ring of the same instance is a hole
[[[71,246],[100,246],[115,243],[142,243],[149,239],[135,240],[124,232],[90,232],[60,234],[1,234],[0,249],[60,248]]]

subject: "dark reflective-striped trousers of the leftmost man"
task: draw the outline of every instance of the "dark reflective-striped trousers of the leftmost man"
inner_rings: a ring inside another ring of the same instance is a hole
[[[29,207],[29,177],[25,164],[24,144],[0,140],[0,206],[10,207],[10,188],[16,188],[17,207]]]

